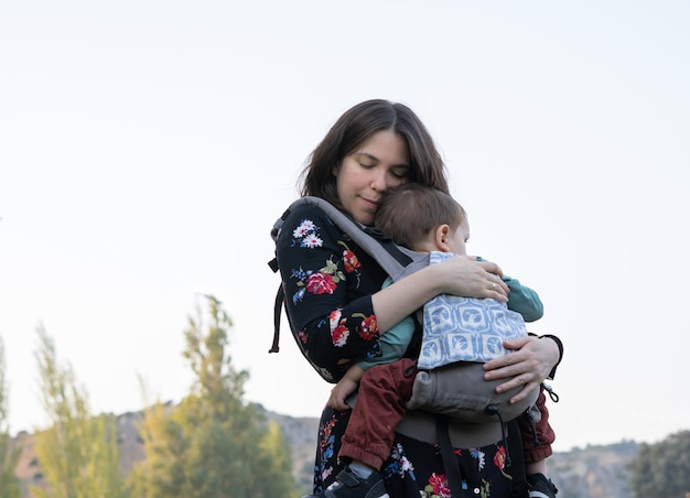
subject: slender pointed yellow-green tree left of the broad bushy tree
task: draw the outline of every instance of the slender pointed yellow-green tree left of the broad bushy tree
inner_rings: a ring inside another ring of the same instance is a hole
[[[40,498],[123,497],[117,424],[112,415],[93,416],[87,393],[69,366],[57,364],[55,346],[43,326],[35,358],[48,429],[36,433],[35,452],[47,486]]]

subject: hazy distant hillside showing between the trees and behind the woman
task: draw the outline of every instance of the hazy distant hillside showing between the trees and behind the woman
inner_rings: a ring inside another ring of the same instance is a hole
[[[263,410],[263,409],[262,409]],[[267,419],[282,429],[292,450],[293,474],[300,489],[311,492],[314,451],[319,419],[293,418],[263,410]],[[141,412],[117,416],[120,468],[128,473],[144,457],[142,440],[137,431]],[[22,432],[13,440],[24,445],[15,475],[22,480],[25,497],[28,485],[42,486],[43,475],[33,452],[33,434]],[[559,488],[558,498],[633,498],[628,488],[627,463],[637,454],[638,444],[621,442],[605,446],[586,446],[556,453],[549,459],[549,473]]]

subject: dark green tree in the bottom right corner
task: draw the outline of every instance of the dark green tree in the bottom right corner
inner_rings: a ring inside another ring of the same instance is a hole
[[[684,497],[690,492],[690,431],[671,434],[659,443],[643,443],[629,469],[636,497]]]

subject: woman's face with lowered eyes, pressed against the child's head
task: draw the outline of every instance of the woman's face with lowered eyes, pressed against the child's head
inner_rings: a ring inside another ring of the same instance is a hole
[[[345,210],[360,224],[373,225],[384,193],[406,183],[409,172],[406,141],[393,131],[381,130],[346,155],[333,174]]]

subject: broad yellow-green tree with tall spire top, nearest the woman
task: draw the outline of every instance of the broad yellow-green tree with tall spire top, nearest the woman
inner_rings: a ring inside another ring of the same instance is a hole
[[[190,394],[177,407],[159,402],[144,411],[145,459],[132,474],[134,496],[299,496],[287,442],[242,400],[248,374],[233,367],[227,351],[231,321],[215,297],[207,301],[206,329],[197,310],[184,333]]]

